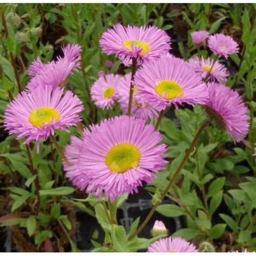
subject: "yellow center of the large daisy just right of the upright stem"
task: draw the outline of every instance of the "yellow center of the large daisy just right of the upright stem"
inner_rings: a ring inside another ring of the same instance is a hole
[[[155,90],[164,99],[173,99],[184,95],[181,86],[172,80],[159,82]]]

